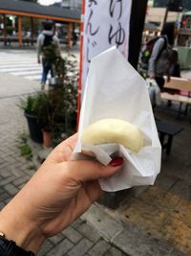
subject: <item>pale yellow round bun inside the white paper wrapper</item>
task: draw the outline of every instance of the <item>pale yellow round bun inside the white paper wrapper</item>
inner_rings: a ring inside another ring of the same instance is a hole
[[[138,152],[143,147],[143,136],[136,126],[120,119],[108,118],[86,128],[82,142],[94,145],[117,143]]]

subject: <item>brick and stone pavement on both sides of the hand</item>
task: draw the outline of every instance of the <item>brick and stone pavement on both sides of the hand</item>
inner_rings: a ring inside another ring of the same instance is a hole
[[[28,129],[16,104],[39,88],[37,81],[0,73],[0,208],[34,172],[17,148],[19,134]],[[144,188],[140,196],[130,192],[117,211],[94,204],[68,229],[47,240],[39,255],[191,255],[191,114],[178,121],[176,113],[174,105],[156,110],[157,117],[179,123],[184,130],[176,136],[170,156],[162,154],[155,186]]]

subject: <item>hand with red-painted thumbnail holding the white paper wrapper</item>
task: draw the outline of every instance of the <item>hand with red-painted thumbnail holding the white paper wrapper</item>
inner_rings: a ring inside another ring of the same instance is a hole
[[[0,231],[37,252],[47,237],[66,228],[99,198],[97,179],[117,173],[122,158],[107,167],[96,161],[71,161],[76,137],[58,145],[28,184],[0,213]]]

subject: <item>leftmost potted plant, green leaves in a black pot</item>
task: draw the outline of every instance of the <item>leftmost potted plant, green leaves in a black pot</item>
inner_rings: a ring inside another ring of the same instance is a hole
[[[38,105],[40,103],[40,94],[34,93],[22,98],[18,105],[24,110],[24,115],[28,122],[30,136],[34,142],[42,143],[42,131],[38,118]]]

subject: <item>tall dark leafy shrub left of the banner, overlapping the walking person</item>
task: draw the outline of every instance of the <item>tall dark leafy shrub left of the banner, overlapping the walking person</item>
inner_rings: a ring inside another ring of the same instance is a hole
[[[62,58],[54,48],[52,44],[46,52],[47,58],[51,55],[54,82],[52,90],[41,92],[38,116],[43,133],[52,134],[55,145],[75,131],[78,72],[74,55]]]

